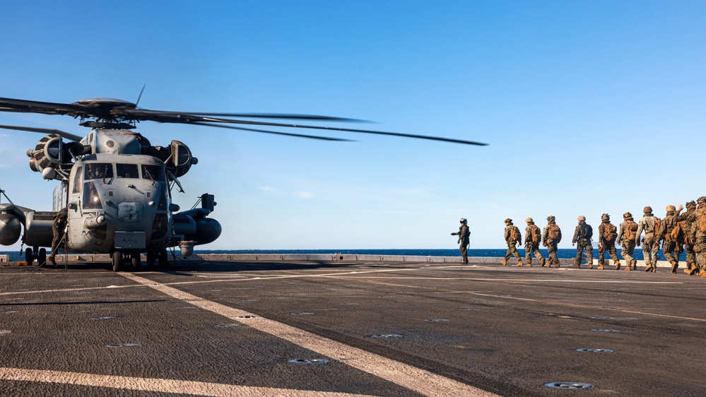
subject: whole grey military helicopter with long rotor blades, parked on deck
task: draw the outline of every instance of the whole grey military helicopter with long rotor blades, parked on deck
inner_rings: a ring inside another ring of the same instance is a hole
[[[0,112],[67,115],[79,119],[80,126],[90,128],[90,132],[81,137],[57,129],[0,125],[1,129],[46,134],[35,148],[27,151],[30,168],[40,172],[43,179],[59,181],[54,189],[52,211],[17,206],[0,190],[8,201],[0,203],[0,244],[15,244],[21,235],[22,244],[27,246],[25,261],[31,264],[36,259],[40,265],[45,263],[47,248],[52,247],[55,237],[54,218],[64,209],[64,238],[61,246],[50,253],[51,259],[59,250],[64,253],[110,254],[113,271],[121,271],[127,263],[136,270],[142,264],[143,253],[146,265],[153,266],[156,261],[165,263],[167,249],[172,247],[178,246],[183,256],[190,256],[194,245],[216,241],[222,227],[218,220],[208,218],[216,206],[214,195],[202,194],[199,198],[201,208],[196,208],[197,202],[187,211],[179,212],[180,207],[172,203],[175,187],[184,191],[178,178],[187,174],[198,159],[180,141],[171,141],[168,146],[153,146],[145,136],[132,131],[143,121],[213,126],[325,141],[350,140],[272,131],[271,128],[343,131],[486,145],[438,136],[278,121],[363,122],[342,117],[143,109],[137,105],[140,97],[136,103],[105,97],[72,103],[0,97]]]

